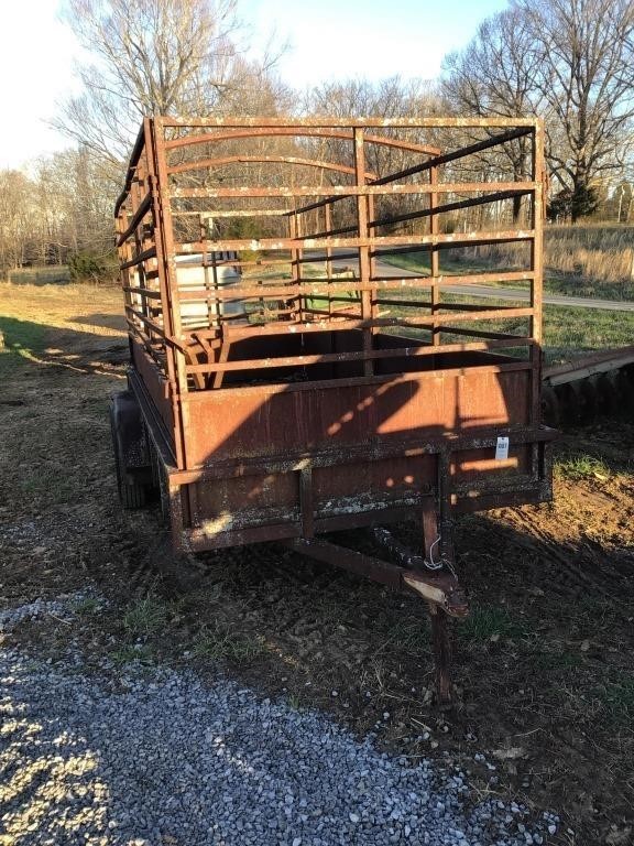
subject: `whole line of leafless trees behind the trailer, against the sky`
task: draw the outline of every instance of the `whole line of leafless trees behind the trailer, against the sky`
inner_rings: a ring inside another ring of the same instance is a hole
[[[446,56],[438,80],[342,80],[303,95],[276,72],[283,47],[250,50],[239,12],[238,0],[65,1],[88,56],[78,67],[80,94],[55,119],[73,147],[26,172],[0,171],[0,270],[73,257],[105,264],[125,161],[141,118],[152,113],[538,115],[550,217],[576,221],[600,210],[630,221],[634,214],[634,1],[511,0]],[[529,172],[528,155],[525,139],[505,144],[515,178]],[[482,158],[483,172],[500,164]]]

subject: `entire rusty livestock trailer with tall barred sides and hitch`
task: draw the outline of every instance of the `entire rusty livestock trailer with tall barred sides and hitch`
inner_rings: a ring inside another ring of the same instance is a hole
[[[147,118],[116,207],[124,505],[160,488],[177,551],[275,541],[414,590],[442,701],[452,516],[551,497],[543,174],[535,119]],[[359,527],[384,554],[347,545]]]

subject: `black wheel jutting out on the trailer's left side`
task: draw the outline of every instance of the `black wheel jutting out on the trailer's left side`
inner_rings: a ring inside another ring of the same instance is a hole
[[[125,509],[143,508],[147,501],[146,441],[141,411],[130,391],[112,398],[110,432],[119,499]]]

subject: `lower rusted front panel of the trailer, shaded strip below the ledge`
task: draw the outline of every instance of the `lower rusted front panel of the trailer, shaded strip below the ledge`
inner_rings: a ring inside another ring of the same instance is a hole
[[[457,454],[450,459],[452,468],[469,464],[481,465],[482,469],[472,475],[451,476],[456,486],[449,490],[451,510],[481,511],[549,499],[549,447],[540,443],[536,448],[542,456],[542,475],[528,475],[532,445],[527,445],[514,451],[518,467],[493,470],[494,476],[504,474],[504,484],[501,478],[487,478],[485,468],[493,464],[493,448]],[[403,520],[434,495],[438,459],[438,455],[423,455],[317,468],[310,474],[310,531],[306,531],[303,513],[306,474],[300,470],[201,479],[182,487],[183,499],[190,505],[190,519],[184,523],[183,536],[192,549],[210,550]],[[196,503],[195,509],[192,503]]]

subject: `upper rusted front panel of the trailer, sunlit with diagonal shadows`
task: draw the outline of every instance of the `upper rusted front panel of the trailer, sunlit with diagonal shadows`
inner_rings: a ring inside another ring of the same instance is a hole
[[[409,375],[408,375],[409,377]],[[379,386],[182,398],[189,469],[232,457],[338,449],[382,438],[428,440],[476,427],[527,425],[529,371],[433,371]]]

